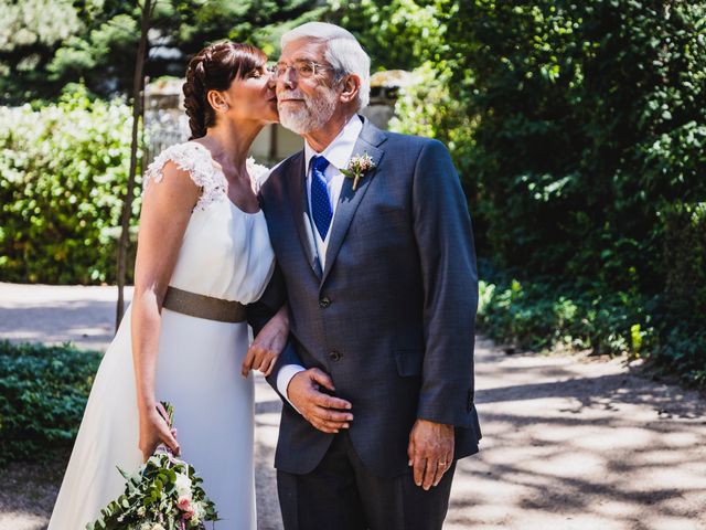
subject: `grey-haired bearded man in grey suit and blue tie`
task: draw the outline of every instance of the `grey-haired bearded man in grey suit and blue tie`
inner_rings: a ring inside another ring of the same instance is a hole
[[[447,149],[357,115],[370,59],[342,28],[282,36],[280,120],[304,149],[260,200],[295,348],[275,466],[287,530],[440,529],[478,452],[471,222]],[[346,173],[346,174],[344,174]]]

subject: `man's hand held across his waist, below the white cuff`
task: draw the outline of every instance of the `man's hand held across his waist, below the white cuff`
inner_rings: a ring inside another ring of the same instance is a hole
[[[287,386],[287,398],[319,431],[334,434],[341,428],[349,428],[353,414],[343,411],[350,411],[351,403],[320,392],[321,386],[335,392],[331,378],[318,368],[311,368],[291,378]]]

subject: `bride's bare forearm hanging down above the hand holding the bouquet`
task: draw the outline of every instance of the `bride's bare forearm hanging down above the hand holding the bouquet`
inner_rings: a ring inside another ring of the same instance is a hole
[[[154,381],[161,325],[160,300],[151,289],[136,288],[132,300],[132,362],[140,412],[157,405]]]

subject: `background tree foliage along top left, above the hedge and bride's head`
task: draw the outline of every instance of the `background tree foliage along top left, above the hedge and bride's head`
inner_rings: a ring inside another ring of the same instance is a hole
[[[191,55],[231,39],[274,54],[288,26],[320,19],[315,0],[159,0],[146,75],[182,76]],[[0,104],[54,98],[69,82],[127,94],[140,36],[138,2],[23,0],[0,3]],[[6,21],[8,23],[6,23]]]

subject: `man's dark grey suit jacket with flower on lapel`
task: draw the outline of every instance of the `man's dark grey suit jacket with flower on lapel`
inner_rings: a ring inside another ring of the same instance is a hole
[[[384,132],[364,120],[354,155],[375,168],[346,179],[325,268],[308,233],[303,151],[272,170],[260,203],[290,308],[287,363],[331,374],[353,403],[350,435],[379,476],[405,473],[416,418],[456,426],[456,458],[478,452],[473,339],[478,277],[471,220],[446,147]],[[278,274],[279,274],[278,272]],[[332,435],[285,400],[275,466],[313,470]]]

